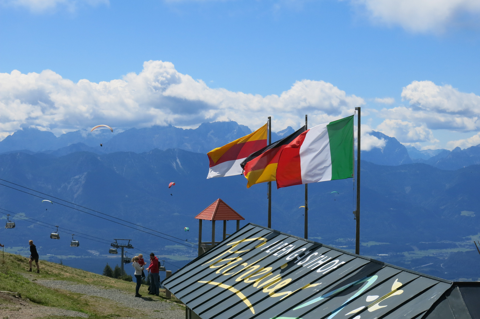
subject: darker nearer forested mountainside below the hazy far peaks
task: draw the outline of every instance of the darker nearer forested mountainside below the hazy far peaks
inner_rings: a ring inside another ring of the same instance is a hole
[[[461,258],[467,259],[467,264],[473,264],[478,255],[466,238],[480,231],[480,197],[475,187],[480,165],[445,171],[420,163],[387,166],[362,161],[361,169],[362,254],[409,268],[433,262],[427,273],[446,278],[465,278],[478,273],[480,266],[465,269],[461,266],[463,263],[456,262],[457,258],[409,261],[404,253],[413,253],[416,249],[454,249]],[[245,222],[265,225],[265,184],[247,189],[243,176],[207,180],[207,172],[205,154],[181,149],[154,149],[140,154],[79,151],[59,157],[23,152],[0,155],[0,178],[4,180],[165,232],[177,237],[173,240],[180,243],[186,239],[195,243],[198,221],[193,217],[217,198],[222,198],[246,218],[241,226]],[[169,182],[176,185],[168,189]],[[272,226],[302,236],[304,217],[299,205],[303,202],[304,188],[301,185],[273,188]],[[332,194],[333,191],[336,194]],[[313,239],[353,249],[352,194],[351,179],[309,185],[309,235]],[[42,198],[44,195],[38,198],[0,186],[0,212],[6,214],[6,209],[25,214],[50,225],[72,229],[73,233],[78,231],[106,240],[131,238],[135,248],[152,250],[168,256],[170,261],[176,256],[193,258],[195,255],[179,243],[58,204],[42,204]],[[5,217],[0,214],[3,222]],[[13,218],[16,228],[0,228],[2,244],[7,247],[26,246],[26,242],[18,243],[18,239],[33,238],[43,255],[51,254],[56,260],[72,255],[90,256],[91,251],[108,256],[108,242],[102,244],[81,238],[81,246],[72,249],[69,247],[72,232],[63,232],[61,240],[52,240],[48,235],[53,227],[49,229]],[[209,234],[210,225],[204,222],[205,234]],[[228,222],[228,233],[235,225]],[[222,225],[217,223],[217,226],[221,237]],[[185,232],[184,227],[190,231]],[[444,258],[448,254],[444,252]]]

